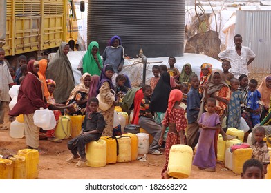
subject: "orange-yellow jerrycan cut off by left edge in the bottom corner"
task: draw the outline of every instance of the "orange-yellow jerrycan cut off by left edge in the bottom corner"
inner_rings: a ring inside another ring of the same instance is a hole
[[[13,161],[0,158],[0,179],[13,179]]]

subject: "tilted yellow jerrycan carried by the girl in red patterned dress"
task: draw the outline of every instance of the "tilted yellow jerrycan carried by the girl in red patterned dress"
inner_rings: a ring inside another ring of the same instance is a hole
[[[193,150],[188,145],[172,145],[169,150],[167,174],[174,178],[189,177],[192,167]]]

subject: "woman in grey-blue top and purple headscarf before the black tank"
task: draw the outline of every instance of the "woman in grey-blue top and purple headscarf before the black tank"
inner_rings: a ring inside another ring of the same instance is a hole
[[[111,64],[113,66],[114,73],[112,82],[115,84],[115,77],[117,77],[118,73],[122,71],[122,66],[124,65],[124,48],[122,47],[120,37],[111,37],[109,44],[102,54],[102,63]]]

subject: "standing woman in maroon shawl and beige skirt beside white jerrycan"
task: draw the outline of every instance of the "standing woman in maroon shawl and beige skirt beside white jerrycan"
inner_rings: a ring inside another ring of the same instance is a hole
[[[39,62],[31,60],[28,62],[28,74],[21,82],[19,88],[18,100],[14,108],[9,112],[11,116],[24,114],[24,131],[26,136],[26,145],[30,149],[39,150],[39,127],[34,124],[34,112],[39,108],[46,109],[44,102],[43,82],[39,79]]]

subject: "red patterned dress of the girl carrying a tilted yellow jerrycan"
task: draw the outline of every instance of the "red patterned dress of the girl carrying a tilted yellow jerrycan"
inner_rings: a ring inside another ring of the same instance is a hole
[[[187,120],[185,119],[185,110],[183,108],[180,109],[172,109],[170,114],[165,114],[165,118],[162,121],[162,125],[165,125],[166,127],[169,126],[169,123],[175,123],[176,124],[176,131],[180,132],[183,130],[183,138],[185,139],[185,128],[187,127]],[[162,168],[162,179],[164,179],[163,174],[167,171],[167,165],[169,164],[169,150],[172,145],[180,144],[180,138],[178,134],[175,134],[173,132],[167,133],[167,141],[166,141],[166,147],[165,147],[165,156],[166,156],[166,163],[164,167]]]

